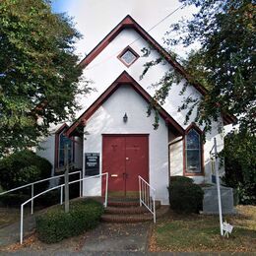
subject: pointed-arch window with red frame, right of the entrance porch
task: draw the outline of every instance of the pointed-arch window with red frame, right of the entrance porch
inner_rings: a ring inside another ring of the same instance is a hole
[[[191,126],[185,137],[185,173],[202,174],[203,173],[203,154],[202,154],[202,132],[194,126]]]

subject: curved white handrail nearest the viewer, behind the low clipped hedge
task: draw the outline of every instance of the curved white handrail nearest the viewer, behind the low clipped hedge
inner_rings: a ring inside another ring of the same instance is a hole
[[[70,181],[69,184],[73,184],[73,183],[76,183],[76,182],[82,182],[84,180],[88,180],[88,179],[93,179],[93,178],[96,178],[96,177],[100,177],[100,176],[103,176],[105,175],[106,176],[106,179],[105,179],[105,200],[104,200],[104,207],[107,207],[107,196],[108,196],[108,193],[107,193],[107,190],[108,190],[108,172],[104,172],[104,173],[101,173],[101,174],[98,174],[98,175],[95,175],[95,176],[91,176],[91,177],[85,177],[85,178],[80,178],[78,180],[74,180],[74,181]],[[24,206],[27,205],[28,203],[30,203],[33,199],[43,195],[43,194],[46,194],[47,192],[51,191],[51,190],[54,190],[54,189],[58,189],[58,188],[61,188],[61,191],[63,191],[63,187],[65,186],[65,184],[61,184],[61,185],[58,185],[58,186],[55,186],[55,187],[52,187],[52,188],[49,188],[35,196],[33,196],[31,199],[27,200],[26,202],[24,202],[22,205],[21,205],[21,232],[20,232],[20,243],[23,244],[23,229],[24,229]],[[61,193],[61,197],[63,196],[63,193]],[[63,199],[61,200],[60,202],[61,204],[63,203]]]

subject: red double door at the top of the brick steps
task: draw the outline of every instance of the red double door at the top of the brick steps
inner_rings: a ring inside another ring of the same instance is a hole
[[[136,194],[138,175],[149,181],[149,136],[103,135],[102,170],[109,175],[110,195]]]

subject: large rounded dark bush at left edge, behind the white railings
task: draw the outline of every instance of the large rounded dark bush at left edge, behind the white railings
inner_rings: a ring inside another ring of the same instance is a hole
[[[48,178],[51,174],[51,163],[25,150],[14,153],[0,160],[0,184],[5,190]],[[41,191],[48,186],[48,182],[36,185],[34,192]],[[25,190],[26,191],[26,190]]]

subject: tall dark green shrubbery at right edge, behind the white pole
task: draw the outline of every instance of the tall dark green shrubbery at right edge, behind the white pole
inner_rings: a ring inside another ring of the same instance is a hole
[[[256,205],[256,136],[232,132],[224,141],[224,183],[236,189],[241,204]]]

